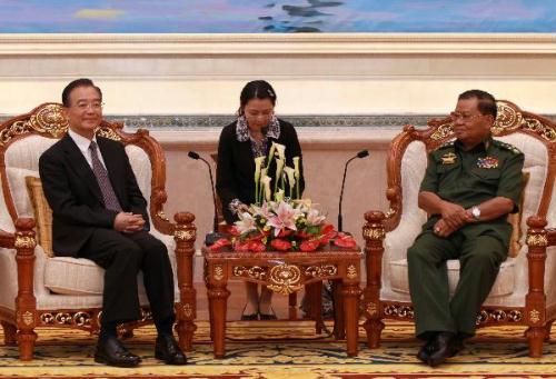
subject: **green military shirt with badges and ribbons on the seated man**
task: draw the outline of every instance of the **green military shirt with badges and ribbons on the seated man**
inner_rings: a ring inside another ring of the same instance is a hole
[[[458,141],[448,142],[429,153],[420,191],[434,192],[465,209],[495,197],[505,197],[514,201],[513,212],[516,212],[523,187],[523,164],[522,151],[492,137],[468,151],[464,151]],[[439,217],[431,215],[423,231],[433,229]],[[508,246],[512,227],[503,216],[467,225],[461,231],[467,237],[489,232]]]

